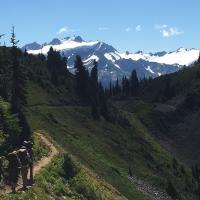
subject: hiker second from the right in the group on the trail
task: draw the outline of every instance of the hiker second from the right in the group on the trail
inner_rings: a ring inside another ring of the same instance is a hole
[[[25,146],[22,146],[18,150],[18,156],[21,162],[21,175],[23,181],[23,189],[25,190],[27,187],[27,176],[28,176],[28,168],[30,163],[30,156]]]

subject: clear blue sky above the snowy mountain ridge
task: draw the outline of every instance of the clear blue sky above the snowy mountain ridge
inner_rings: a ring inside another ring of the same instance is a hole
[[[80,35],[119,51],[200,48],[199,8],[199,0],[4,0],[1,42],[14,25],[20,46]]]

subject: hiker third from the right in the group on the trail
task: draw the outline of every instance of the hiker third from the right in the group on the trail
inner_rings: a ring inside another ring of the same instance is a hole
[[[16,151],[8,154],[8,162],[8,181],[11,185],[12,192],[16,193],[16,186],[21,168],[21,162]]]

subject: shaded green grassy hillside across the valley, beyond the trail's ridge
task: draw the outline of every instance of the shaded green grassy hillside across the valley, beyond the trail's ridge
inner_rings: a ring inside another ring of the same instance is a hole
[[[126,113],[131,127],[122,128],[103,120],[93,121],[88,108],[56,106],[54,101],[55,97],[29,84],[27,117],[32,129],[47,130],[64,149],[128,199],[146,199],[129,182],[129,167],[134,175],[161,188],[166,188],[169,177],[183,199],[195,199],[189,192],[192,181],[187,170],[181,172],[179,163],[173,165],[173,158],[152,139],[134,114]]]

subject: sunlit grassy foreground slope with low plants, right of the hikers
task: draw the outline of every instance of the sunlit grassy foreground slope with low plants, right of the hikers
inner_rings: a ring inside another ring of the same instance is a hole
[[[89,171],[76,161],[70,159],[65,167],[73,166],[77,168],[76,174],[70,179],[64,172],[63,153],[56,156],[52,162],[41,170],[36,176],[36,185],[25,193],[5,195],[2,200],[50,200],[50,199],[67,199],[67,200],[126,200],[111,185],[105,183],[96,174]]]

